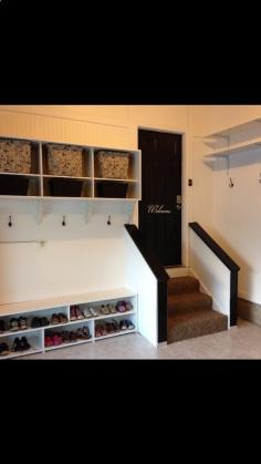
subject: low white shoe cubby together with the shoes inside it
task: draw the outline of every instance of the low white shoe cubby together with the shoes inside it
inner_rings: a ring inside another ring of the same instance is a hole
[[[137,302],[132,290],[116,289],[0,305],[0,359],[136,332]]]

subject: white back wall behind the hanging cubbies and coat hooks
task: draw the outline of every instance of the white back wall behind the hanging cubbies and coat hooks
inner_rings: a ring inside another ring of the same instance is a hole
[[[0,106],[0,136],[115,148],[137,148],[137,128],[186,132],[187,106]],[[185,156],[188,149],[185,144]],[[115,209],[116,208],[116,209]],[[184,221],[186,209],[184,209]],[[106,226],[113,213],[113,225]],[[7,226],[12,214],[14,227]],[[67,226],[61,226],[66,214]],[[84,205],[63,202],[38,224],[35,202],[0,200],[0,240],[44,239],[0,245],[0,302],[121,287],[124,283],[123,224],[126,210],[106,202],[85,221]],[[137,221],[137,208],[134,214]],[[185,230],[187,234],[187,228]],[[184,238],[184,244],[186,236]],[[185,246],[185,245],[184,245]]]

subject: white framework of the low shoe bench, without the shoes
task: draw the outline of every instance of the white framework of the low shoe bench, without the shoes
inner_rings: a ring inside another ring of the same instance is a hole
[[[72,306],[79,306],[79,308],[94,308],[98,312],[102,305],[116,305],[117,301],[127,300],[132,305],[132,309],[125,312],[114,312],[109,315],[102,315],[96,317],[84,318],[81,320],[70,320],[70,312]],[[21,355],[28,355],[32,353],[45,352],[53,349],[72,347],[81,343],[95,342],[105,338],[123,336],[138,331],[138,301],[137,295],[128,288],[119,288],[114,290],[106,290],[100,292],[88,292],[82,295],[74,295],[67,297],[49,298],[44,300],[34,301],[22,301],[17,303],[0,305],[0,320],[4,321],[6,328],[9,327],[9,322],[12,318],[19,319],[20,317],[27,318],[28,329],[19,329],[15,331],[4,330],[0,332],[0,343],[4,342],[8,344],[10,353],[7,355],[0,355],[0,359],[9,359]],[[67,322],[58,324],[48,324],[44,327],[33,328],[31,327],[32,319],[35,317],[45,317],[49,320],[53,313],[63,313],[67,318]],[[95,337],[96,324],[111,322],[116,320],[118,323],[121,320],[132,321],[133,329],[119,330],[117,332],[109,332],[101,337]],[[58,346],[46,347],[44,339],[50,333],[61,333],[62,331],[75,331],[76,329],[88,328],[91,337],[88,339],[77,339],[73,342],[61,343]],[[25,337],[31,348],[25,351],[12,352],[12,346],[15,338]]]

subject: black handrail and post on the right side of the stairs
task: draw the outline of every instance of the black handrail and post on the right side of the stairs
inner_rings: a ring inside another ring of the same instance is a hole
[[[238,319],[238,271],[240,267],[230,256],[210,237],[210,235],[198,224],[189,223],[189,227],[209,247],[209,249],[230,270],[230,326],[237,326]]]

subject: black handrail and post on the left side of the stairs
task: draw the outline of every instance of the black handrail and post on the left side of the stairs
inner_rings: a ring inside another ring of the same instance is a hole
[[[158,261],[155,252],[147,248],[140,230],[133,224],[125,224],[125,229],[157,279],[158,342],[167,341],[167,281],[169,276]]]

